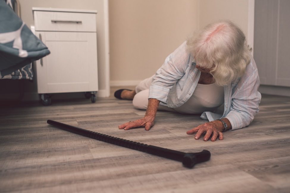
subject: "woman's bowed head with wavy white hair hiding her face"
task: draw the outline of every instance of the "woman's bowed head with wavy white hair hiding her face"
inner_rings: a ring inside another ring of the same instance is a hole
[[[251,48],[246,37],[229,20],[217,21],[195,31],[186,45],[196,64],[200,68],[210,69],[220,86],[229,85],[241,77],[250,63]]]

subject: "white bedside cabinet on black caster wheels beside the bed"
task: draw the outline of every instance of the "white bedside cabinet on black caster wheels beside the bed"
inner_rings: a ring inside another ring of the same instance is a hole
[[[36,62],[37,88],[43,104],[51,93],[98,91],[95,10],[33,7],[35,35],[51,54]]]

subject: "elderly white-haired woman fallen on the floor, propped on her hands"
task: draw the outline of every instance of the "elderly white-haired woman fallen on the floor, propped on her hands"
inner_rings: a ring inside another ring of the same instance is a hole
[[[134,107],[146,110],[143,118],[119,126],[149,130],[157,110],[201,114],[209,122],[187,134],[204,141],[222,140],[226,130],[249,125],[259,111],[261,94],[258,70],[242,30],[222,20],[193,33],[171,53],[156,74],[134,91],[120,89],[119,99],[133,99]],[[224,104],[223,114],[214,113]]]

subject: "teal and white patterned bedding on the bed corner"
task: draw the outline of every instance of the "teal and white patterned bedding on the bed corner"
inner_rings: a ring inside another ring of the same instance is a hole
[[[32,79],[31,63],[50,52],[12,10],[12,1],[0,0],[0,79]]]

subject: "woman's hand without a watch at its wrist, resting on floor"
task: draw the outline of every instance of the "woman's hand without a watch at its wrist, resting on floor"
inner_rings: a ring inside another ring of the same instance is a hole
[[[135,121],[129,121],[127,123],[119,125],[119,129],[128,130],[128,129],[136,128],[136,127],[145,127],[145,130],[148,131],[153,126],[154,119],[155,119],[155,116],[145,115],[141,119],[137,119]]]

